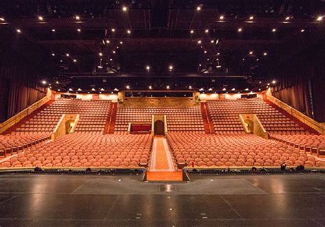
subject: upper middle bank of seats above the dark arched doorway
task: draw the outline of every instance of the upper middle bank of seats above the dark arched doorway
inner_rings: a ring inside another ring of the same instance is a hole
[[[130,122],[151,122],[152,115],[166,115],[169,131],[202,131],[200,106],[191,107],[121,107],[117,108],[115,131],[127,131]]]

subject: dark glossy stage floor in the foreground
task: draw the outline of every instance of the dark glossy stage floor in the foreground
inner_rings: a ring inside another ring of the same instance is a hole
[[[324,226],[325,175],[0,176],[0,226]]]

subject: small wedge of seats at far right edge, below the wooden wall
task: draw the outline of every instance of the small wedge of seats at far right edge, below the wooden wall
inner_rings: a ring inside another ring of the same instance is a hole
[[[304,150],[305,152],[325,155],[325,135],[272,134],[271,138]]]

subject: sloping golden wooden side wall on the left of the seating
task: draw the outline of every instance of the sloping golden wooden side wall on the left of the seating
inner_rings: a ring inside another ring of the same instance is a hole
[[[34,110],[40,108],[40,106],[43,106],[47,101],[51,99],[51,93],[42,99],[36,101],[31,106],[28,106],[24,110],[21,110],[18,114],[14,115],[13,117],[10,117],[7,121],[4,121],[3,123],[0,123],[0,133],[5,132],[5,130],[8,130],[8,128],[14,126],[16,123],[19,123],[21,119],[26,117],[27,115],[31,114]]]

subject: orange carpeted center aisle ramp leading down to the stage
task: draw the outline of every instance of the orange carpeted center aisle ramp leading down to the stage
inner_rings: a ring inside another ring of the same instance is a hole
[[[167,139],[160,135],[154,137],[147,180],[182,180],[182,172],[178,172],[173,164]]]

